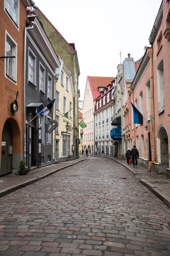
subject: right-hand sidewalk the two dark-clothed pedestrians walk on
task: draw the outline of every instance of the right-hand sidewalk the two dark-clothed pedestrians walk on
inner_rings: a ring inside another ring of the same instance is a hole
[[[167,179],[166,175],[158,175],[153,171],[148,172],[146,168],[141,166],[135,168],[133,165],[128,166],[126,160],[118,160],[116,157],[108,158],[115,160],[132,172],[144,186],[150,189],[150,191],[152,191],[158,198],[161,199],[161,201],[164,202],[164,204],[167,205],[167,207],[170,208],[170,179]]]

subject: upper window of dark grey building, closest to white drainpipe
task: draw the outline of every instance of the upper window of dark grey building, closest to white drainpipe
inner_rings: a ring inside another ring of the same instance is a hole
[[[28,81],[36,86],[36,57],[31,49],[29,49]]]

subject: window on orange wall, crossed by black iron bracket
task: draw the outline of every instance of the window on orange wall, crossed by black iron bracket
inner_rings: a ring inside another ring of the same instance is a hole
[[[15,56],[15,58],[6,58],[5,76],[12,79],[14,83],[17,81],[17,43],[6,31],[6,57]]]

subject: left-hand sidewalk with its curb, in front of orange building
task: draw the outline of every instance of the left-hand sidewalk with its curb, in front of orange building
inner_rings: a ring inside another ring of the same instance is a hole
[[[84,161],[83,156],[80,156],[79,159],[75,159],[72,161],[54,163],[49,166],[34,169],[30,171],[27,175],[9,174],[0,177],[0,197],[7,195],[17,189],[21,189],[25,186],[28,186],[31,183],[34,183],[49,175],[52,175],[55,172],[59,172],[69,166],[73,166],[76,163],[80,163],[81,161]]]

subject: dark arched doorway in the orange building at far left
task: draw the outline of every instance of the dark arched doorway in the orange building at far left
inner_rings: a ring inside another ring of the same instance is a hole
[[[12,130],[7,120],[3,126],[0,176],[12,172]]]

